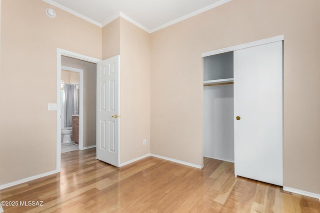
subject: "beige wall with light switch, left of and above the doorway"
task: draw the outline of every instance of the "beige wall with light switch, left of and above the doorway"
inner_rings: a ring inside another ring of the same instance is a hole
[[[47,7],[55,18],[45,14]],[[42,0],[2,0],[0,185],[55,170],[56,48],[101,58],[102,29]]]

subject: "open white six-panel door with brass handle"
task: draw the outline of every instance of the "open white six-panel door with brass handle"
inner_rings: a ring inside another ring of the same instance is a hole
[[[96,159],[119,166],[119,59],[96,66]]]

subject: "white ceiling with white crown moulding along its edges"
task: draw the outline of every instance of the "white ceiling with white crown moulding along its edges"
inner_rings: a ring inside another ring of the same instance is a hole
[[[147,32],[154,32],[230,0],[43,1],[86,19],[98,26],[104,26],[121,16]]]

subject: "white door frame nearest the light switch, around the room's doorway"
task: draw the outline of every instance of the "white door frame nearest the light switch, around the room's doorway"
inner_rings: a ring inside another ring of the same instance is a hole
[[[100,59],[97,59],[97,58],[71,52],[65,49],[56,48],[56,105],[57,105],[56,107],[56,164],[55,164],[56,172],[61,171],[61,117],[60,117],[60,114],[61,114],[61,110],[60,110],[61,56],[67,56],[70,58],[75,58],[75,59],[79,59],[82,61],[87,61],[95,64],[98,61],[100,61]],[[82,89],[83,89],[83,86],[82,86]],[[81,97],[81,94],[80,94],[80,97]],[[82,100],[83,100],[83,97],[82,97]],[[83,107],[80,108],[80,111],[81,109],[83,110]],[[81,127],[83,128],[83,126]],[[79,120],[79,128],[80,128],[80,120]],[[80,139],[80,135],[79,135],[79,139]],[[79,148],[83,149],[83,135],[81,136],[81,139],[82,139],[82,147],[79,146]]]

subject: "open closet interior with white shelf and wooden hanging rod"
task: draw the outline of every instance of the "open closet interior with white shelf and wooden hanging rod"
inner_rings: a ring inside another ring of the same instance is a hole
[[[234,162],[233,51],[203,57],[203,156]]]

